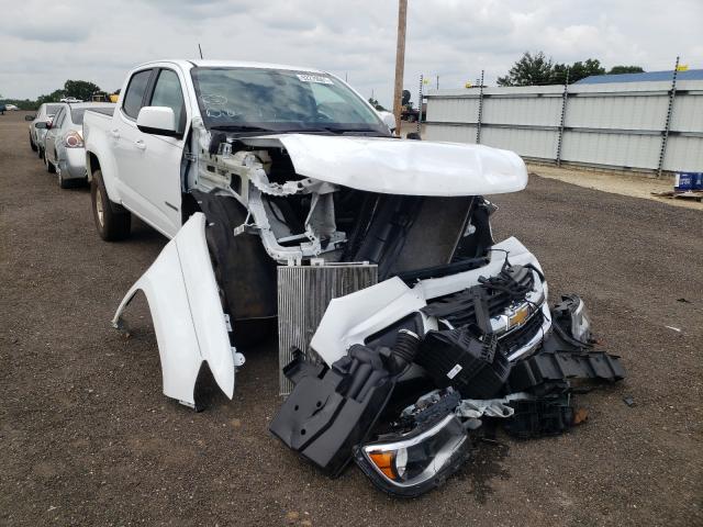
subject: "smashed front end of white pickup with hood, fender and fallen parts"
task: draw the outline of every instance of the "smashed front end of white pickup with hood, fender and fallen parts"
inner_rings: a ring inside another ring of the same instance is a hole
[[[582,301],[550,310],[536,257],[493,239],[483,195],[526,186],[515,154],[199,122],[191,134],[190,218],[113,319],[146,294],[166,395],[200,408],[207,366],[232,397],[243,351],[278,324],[274,435],[330,475],[354,460],[414,496],[460,466],[481,418],[520,407],[528,437],[551,431],[534,424],[549,407],[566,428],[568,379],[623,377],[591,349]]]

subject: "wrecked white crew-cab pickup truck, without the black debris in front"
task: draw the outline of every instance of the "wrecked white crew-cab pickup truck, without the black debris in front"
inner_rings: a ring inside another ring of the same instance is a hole
[[[114,115],[86,114],[83,137],[100,236],[125,238],[135,214],[174,238],[113,323],[144,291],[164,392],[183,404],[198,405],[204,366],[232,397],[244,362],[236,347],[270,334],[277,315],[281,357],[294,345],[332,365],[352,345],[392,341],[401,328],[422,337],[450,327],[450,316],[427,307],[509,265],[532,271],[478,323],[503,339],[511,361],[549,334],[539,264],[515,238],[494,244],[495,208],[481,197],[522,190],[522,159],[393,137],[331,74],[144,64],[129,74]],[[585,318],[574,327],[587,332]]]

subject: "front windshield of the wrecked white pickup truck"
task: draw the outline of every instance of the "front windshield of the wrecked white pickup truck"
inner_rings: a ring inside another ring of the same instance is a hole
[[[193,68],[207,127],[276,132],[375,132],[380,117],[334,77],[279,69]]]

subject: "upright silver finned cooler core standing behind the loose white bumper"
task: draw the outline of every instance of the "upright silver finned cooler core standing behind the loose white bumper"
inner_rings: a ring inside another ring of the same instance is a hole
[[[278,267],[278,361],[281,395],[288,395],[293,388],[283,375],[283,367],[293,358],[294,348],[311,356],[310,340],[330,301],[377,282],[378,266],[369,264]]]

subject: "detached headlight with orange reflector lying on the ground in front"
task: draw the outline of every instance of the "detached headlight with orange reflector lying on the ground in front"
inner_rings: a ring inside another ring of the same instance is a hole
[[[355,449],[355,459],[371,482],[397,496],[415,497],[439,486],[469,455],[461,422],[449,414],[408,434],[382,436]]]

